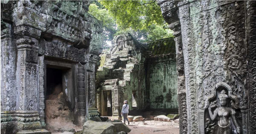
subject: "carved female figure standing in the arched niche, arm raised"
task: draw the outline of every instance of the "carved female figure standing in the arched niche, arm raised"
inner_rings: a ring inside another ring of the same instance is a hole
[[[219,106],[214,110],[213,114],[211,109],[217,105],[211,102],[208,108],[212,121],[214,121],[216,117],[219,116],[217,134],[231,134],[240,132],[240,127],[235,119],[235,110],[227,106],[228,99],[229,96],[227,95],[226,90],[222,89],[220,95],[218,96]],[[236,130],[232,128],[232,121]]]

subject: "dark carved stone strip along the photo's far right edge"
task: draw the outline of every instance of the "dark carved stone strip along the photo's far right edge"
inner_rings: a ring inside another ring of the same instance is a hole
[[[248,78],[249,78],[249,92],[250,92],[250,104],[249,104],[249,113],[247,115],[249,118],[248,120],[243,121],[243,126],[245,128],[249,128],[248,131],[251,133],[256,133],[256,64],[255,64],[255,57],[256,57],[256,2],[255,1],[248,1],[246,3],[247,10],[246,10],[246,30],[247,30],[247,44],[248,44]],[[247,123],[249,122],[249,123]]]

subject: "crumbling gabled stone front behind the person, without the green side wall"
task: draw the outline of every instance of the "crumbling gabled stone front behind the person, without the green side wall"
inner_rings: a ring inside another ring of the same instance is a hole
[[[132,107],[132,92],[136,92],[136,109],[145,109],[146,86],[143,44],[134,40],[130,34],[118,35],[112,41],[111,51],[101,55],[101,65],[96,73],[96,87],[99,95],[105,90],[112,92],[113,118],[121,118],[121,107],[124,100],[128,100],[130,110]],[[106,100],[102,96],[97,102],[97,107],[103,111],[103,103]]]

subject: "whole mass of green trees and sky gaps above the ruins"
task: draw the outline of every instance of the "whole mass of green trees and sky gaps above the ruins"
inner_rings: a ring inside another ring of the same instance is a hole
[[[173,37],[156,1],[94,1],[89,13],[102,21],[105,41],[126,32],[141,42]]]

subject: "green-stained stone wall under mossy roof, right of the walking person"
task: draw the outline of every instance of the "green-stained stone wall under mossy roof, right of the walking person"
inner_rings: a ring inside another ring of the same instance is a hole
[[[150,109],[178,109],[175,41],[166,38],[145,43],[147,57],[147,88]]]

